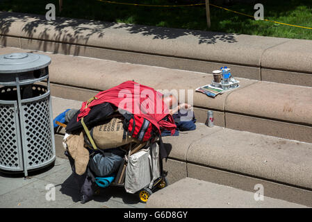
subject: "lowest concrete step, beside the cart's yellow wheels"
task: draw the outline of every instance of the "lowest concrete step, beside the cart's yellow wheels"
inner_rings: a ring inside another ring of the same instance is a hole
[[[256,194],[256,192],[258,192]],[[263,198],[260,194],[264,195]],[[304,208],[304,205],[290,203],[265,196],[259,190],[243,191],[212,182],[184,178],[169,185],[147,200],[148,208]]]

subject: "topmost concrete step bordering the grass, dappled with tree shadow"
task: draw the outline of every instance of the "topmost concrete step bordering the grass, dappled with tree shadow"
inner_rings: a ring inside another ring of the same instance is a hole
[[[311,40],[0,12],[0,44],[204,73],[226,65],[241,78],[312,86]]]

